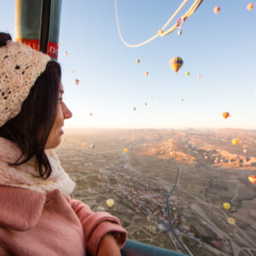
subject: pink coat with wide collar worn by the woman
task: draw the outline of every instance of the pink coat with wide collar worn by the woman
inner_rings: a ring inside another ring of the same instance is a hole
[[[59,189],[44,194],[0,185],[1,256],[96,255],[112,231],[123,247],[127,232],[108,212],[91,212]]]

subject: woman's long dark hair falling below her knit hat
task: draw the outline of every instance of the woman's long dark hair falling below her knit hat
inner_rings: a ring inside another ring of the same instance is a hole
[[[5,46],[8,40],[11,36],[0,32],[0,47]],[[44,148],[55,122],[60,83],[60,64],[48,61],[22,103],[20,113],[0,127],[0,137],[16,143],[21,150],[19,159],[11,166],[24,164],[35,156],[39,177],[45,179],[52,172]]]

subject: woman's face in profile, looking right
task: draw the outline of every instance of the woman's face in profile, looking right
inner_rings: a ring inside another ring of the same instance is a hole
[[[63,93],[64,93],[63,86],[60,83],[55,123],[52,126],[51,130],[49,131],[49,137],[47,139],[45,149],[56,148],[61,143],[61,135],[64,133],[61,127],[64,125],[64,119],[70,119],[72,117],[71,111],[67,108],[66,104],[62,101]]]

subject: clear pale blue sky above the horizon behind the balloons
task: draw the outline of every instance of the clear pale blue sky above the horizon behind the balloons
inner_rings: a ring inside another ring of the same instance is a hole
[[[123,38],[128,44],[151,38],[182,2],[117,0]],[[0,3],[0,31],[15,38],[15,0]],[[248,3],[254,4],[251,11]],[[65,126],[254,130],[255,24],[255,0],[205,0],[184,23],[182,35],[175,30],[130,48],[119,38],[114,0],[63,0],[58,61],[64,102],[73,112]],[[169,65],[174,56],[183,58],[177,74]],[[224,119],[223,112],[231,117]]]

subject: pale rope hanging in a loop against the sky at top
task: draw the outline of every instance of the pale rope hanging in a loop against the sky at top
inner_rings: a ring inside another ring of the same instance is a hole
[[[203,0],[195,0],[195,2],[192,4],[192,6],[187,11],[187,13],[185,15],[181,16],[181,18],[179,18],[177,20],[177,22],[171,28],[169,28],[166,32],[164,32],[164,29],[166,28],[166,26],[168,26],[168,24],[174,19],[174,17],[177,15],[177,13],[183,8],[184,4],[187,2],[188,2],[188,0],[183,1],[183,3],[178,7],[178,9],[172,15],[172,17],[166,22],[166,24],[152,38],[148,38],[148,40],[144,41],[141,44],[127,44],[125,42],[124,38],[122,37],[121,31],[120,31],[118,10],[117,10],[117,0],[114,0],[115,17],[116,17],[116,23],[117,23],[117,28],[118,28],[118,32],[119,32],[119,38],[121,39],[123,44],[125,44],[128,47],[139,47],[139,46],[143,46],[144,44],[148,44],[150,41],[154,40],[154,38],[157,38],[159,36],[163,37],[163,36],[168,35],[169,33],[173,32],[177,27],[179,27],[179,28],[182,27],[184,24],[184,21],[195,12],[195,10],[200,6],[200,4],[203,2]],[[183,22],[181,26],[179,26],[180,20],[182,20],[182,22]]]

